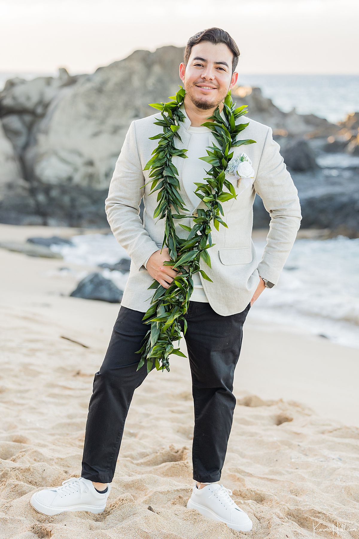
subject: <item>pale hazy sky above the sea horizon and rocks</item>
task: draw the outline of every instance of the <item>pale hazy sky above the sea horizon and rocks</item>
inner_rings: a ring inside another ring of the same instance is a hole
[[[358,74],[353,0],[0,0],[0,71],[71,74],[217,26],[238,73]]]

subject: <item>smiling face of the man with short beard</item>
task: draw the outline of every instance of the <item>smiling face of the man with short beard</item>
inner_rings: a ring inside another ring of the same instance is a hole
[[[232,75],[232,60],[233,53],[224,43],[214,45],[206,41],[192,47],[187,67],[180,64],[180,78],[196,107],[213,109],[226,98],[238,77],[236,72]]]

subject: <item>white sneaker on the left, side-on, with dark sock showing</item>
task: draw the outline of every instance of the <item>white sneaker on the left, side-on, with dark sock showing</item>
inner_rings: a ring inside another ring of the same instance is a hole
[[[106,507],[111,485],[100,494],[93,482],[83,477],[71,477],[62,481],[61,487],[45,488],[31,496],[30,504],[44,515],[58,515],[65,511],[89,511],[102,513]]]

